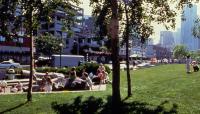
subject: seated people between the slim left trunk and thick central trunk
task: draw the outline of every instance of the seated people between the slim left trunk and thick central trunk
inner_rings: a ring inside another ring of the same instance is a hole
[[[53,90],[63,90],[63,89],[93,89],[94,84],[106,84],[111,83],[108,77],[108,73],[103,64],[99,65],[99,68],[96,71],[96,75],[93,73],[88,74],[86,72],[86,68],[82,69],[82,73],[80,76],[77,76],[76,68],[72,67],[69,75],[65,78],[54,78],[52,79],[48,72],[46,75],[42,77],[41,80],[38,80],[36,76],[34,76],[34,81],[36,82],[37,89],[33,89],[35,91],[45,91],[51,92]]]

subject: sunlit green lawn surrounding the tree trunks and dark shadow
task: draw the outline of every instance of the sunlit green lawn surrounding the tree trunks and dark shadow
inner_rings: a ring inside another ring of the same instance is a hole
[[[126,72],[121,72],[121,96],[122,100],[127,96]],[[165,108],[172,104],[177,105],[180,114],[200,113],[200,75],[199,72],[187,74],[185,65],[161,65],[152,68],[131,71],[133,96],[126,102],[145,102],[150,106],[158,106],[162,102],[168,102]],[[59,94],[33,94],[33,102],[26,102],[26,94],[1,95],[0,112],[20,114],[50,114],[55,113],[51,108],[52,102],[72,103],[74,98],[89,96],[102,98],[106,101],[111,95],[111,85],[106,91],[59,93]],[[11,110],[8,110],[11,109]]]

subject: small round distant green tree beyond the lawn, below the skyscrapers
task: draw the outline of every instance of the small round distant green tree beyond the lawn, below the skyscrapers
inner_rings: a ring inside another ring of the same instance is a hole
[[[181,59],[189,54],[187,48],[184,45],[177,45],[173,49],[174,58]]]

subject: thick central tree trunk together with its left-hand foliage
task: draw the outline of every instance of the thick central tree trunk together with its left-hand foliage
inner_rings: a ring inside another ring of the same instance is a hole
[[[113,83],[112,83],[112,108],[117,113],[119,104],[121,103],[120,96],[120,67],[119,67],[119,11],[118,0],[91,0],[93,5],[94,15],[99,15],[96,24],[100,28],[100,36],[108,35],[111,38],[112,66],[113,66]],[[103,3],[103,4],[101,4]],[[100,12],[99,12],[100,11]],[[109,18],[106,16],[109,14]],[[105,23],[104,21],[108,22]],[[108,24],[108,28],[107,25]],[[108,30],[108,31],[107,31]]]

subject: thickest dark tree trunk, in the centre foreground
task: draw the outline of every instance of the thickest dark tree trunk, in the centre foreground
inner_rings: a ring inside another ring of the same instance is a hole
[[[112,17],[109,26],[109,34],[112,44],[112,66],[113,66],[113,83],[112,83],[112,108],[113,113],[117,113],[121,103],[120,96],[120,68],[119,68],[119,21],[118,21],[118,4],[117,0],[112,0]]]

